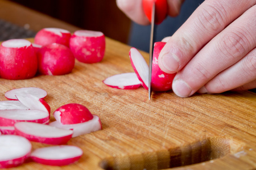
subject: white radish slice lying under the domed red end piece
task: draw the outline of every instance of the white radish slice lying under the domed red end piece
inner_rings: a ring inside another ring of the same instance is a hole
[[[54,121],[49,123],[49,126],[54,126],[56,128],[61,128],[61,129],[73,130],[72,138],[102,129],[101,120],[97,115],[93,115],[92,120],[89,120],[81,124],[63,125],[58,121]]]

